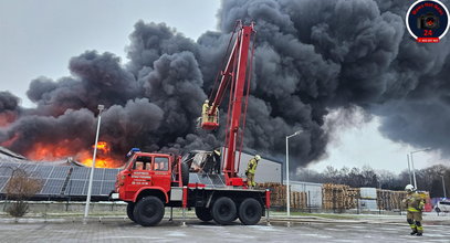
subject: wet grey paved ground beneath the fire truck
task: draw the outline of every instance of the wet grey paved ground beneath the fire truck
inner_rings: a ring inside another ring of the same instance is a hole
[[[167,219],[154,228],[143,228],[127,219],[0,219],[0,242],[450,242],[450,218],[428,221],[422,237],[409,235],[400,216],[368,216],[357,220],[296,218],[287,225],[285,219],[274,219],[272,225],[219,226],[189,219]],[[362,220],[364,219],[364,220]]]

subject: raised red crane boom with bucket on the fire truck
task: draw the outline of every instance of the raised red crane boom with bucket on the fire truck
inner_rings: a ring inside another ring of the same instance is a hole
[[[237,38],[231,50],[224,70],[221,72],[221,80],[216,95],[213,95],[212,103],[207,104],[207,118],[202,120],[201,127],[205,129],[214,129],[218,124],[218,107],[221,104],[228,86],[230,93],[230,104],[228,110],[228,126],[226,130],[226,155],[223,158],[223,173],[226,183],[228,186],[242,186],[242,178],[237,176],[236,152],[239,139],[242,139],[240,133],[241,124],[244,124],[242,118],[242,98],[247,82],[247,68],[251,66],[252,56],[249,61],[250,43],[253,33],[255,33],[253,23],[250,25],[242,25],[238,22],[236,31]],[[249,83],[250,84],[250,83]],[[250,85],[247,88],[250,88]],[[247,106],[245,106],[247,107]],[[244,110],[245,113],[247,110]],[[203,114],[203,117],[205,114]]]

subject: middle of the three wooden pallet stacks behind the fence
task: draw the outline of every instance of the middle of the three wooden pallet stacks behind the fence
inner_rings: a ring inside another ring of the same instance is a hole
[[[322,205],[326,210],[344,210],[357,207],[359,189],[346,184],[325,183],[322,187]]]

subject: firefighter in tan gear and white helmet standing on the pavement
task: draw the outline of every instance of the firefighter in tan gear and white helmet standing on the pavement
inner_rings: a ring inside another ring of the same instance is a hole
[[[416,189],[412,184],[407,184],[405,187],[405,191],[407,191],[406,199],[402,200],[404,207],[407,210],[406,219],[411,228],[412,232],[411,235],[421,236],[423,233],[422,226],[422,210],[423,210],[423,199],[420,197],[419,193],[416,192]]]

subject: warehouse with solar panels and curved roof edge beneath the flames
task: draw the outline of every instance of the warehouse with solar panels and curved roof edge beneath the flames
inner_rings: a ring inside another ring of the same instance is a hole
[[[119,169],[95,169],[93,199],[107,200],[114,190]],[[59,161],[31,161],[6,148],[0,147],[0,198],[7,198],[9,180],[18,171],[39,181],[42,188],[32,196],[32,200],[85,200],[90,168],[71,159]]]

